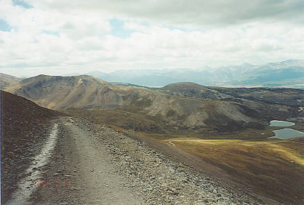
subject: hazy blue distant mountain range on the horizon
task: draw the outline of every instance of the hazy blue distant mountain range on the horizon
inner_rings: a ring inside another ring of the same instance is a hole
[[[131,69],[111,73],[89,72],[108,82],[125,82],[149,87],[193,82],[225,87],[270,87],[304,89],[304,60],[285,60],[265,65],[229,65],[204,69]]]

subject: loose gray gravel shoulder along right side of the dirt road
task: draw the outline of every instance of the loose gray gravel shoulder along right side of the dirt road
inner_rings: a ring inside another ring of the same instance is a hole
[[[128,178],[124,186],[142,197],[144,204],[265,204],[107,126],[84,120],[75,124],[91,133],[94,145],[107,148],[116,172]]]

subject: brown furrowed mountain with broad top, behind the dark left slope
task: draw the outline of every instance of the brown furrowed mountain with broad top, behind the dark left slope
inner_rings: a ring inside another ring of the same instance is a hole
[[[121,97],[110,85],[93,76],[39,75],[24,79],[7,91],[56,110],[121,106]]]

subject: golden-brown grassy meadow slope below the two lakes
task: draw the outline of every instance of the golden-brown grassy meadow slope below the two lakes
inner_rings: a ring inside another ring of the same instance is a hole
[[[302,202],[304,138],[262,142],[172,138],[163,142],[221,167],[259,194],[281,202]]]

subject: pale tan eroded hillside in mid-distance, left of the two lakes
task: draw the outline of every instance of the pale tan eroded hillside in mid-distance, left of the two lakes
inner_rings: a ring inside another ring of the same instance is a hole
[[[195,129],[215,125],[213,122],[206,124],[211,119],[217,120],[216,126],[222,126],[229,121],[239,123],[254,121],[243,115],[242,108],[229,102],[175,97],[141,88],[117,86],[113,89],[122,93],[123,98],[126,99],[123,110],[143,113],[167,126],[186,126]]]

